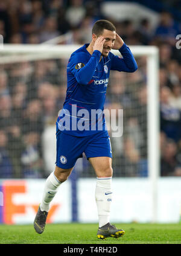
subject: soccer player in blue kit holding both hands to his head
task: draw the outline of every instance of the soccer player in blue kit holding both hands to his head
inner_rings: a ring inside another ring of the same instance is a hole
[[[112,49],[118,50],[122,57],[112,54]],[[42,202],[34,219],[37,233],[44,231],[49,203],[84,152],[97,176],[97,237],[105,239],[124,235],[124,230],[117,229],[109,220],[112,202],[112,151],[101,111],[104,109],[110,70],[135,72],[137,68],[129,47],[118,36],[115,26],[106,20],[95,22],[92,41],[72,53],[67,66],[66,99],[57,118],[56,168],[46,179]],[[88,114],[92,110],[100,112],[97,112],[93,120],[91,115],[80,115],[80,110],[84,113],[87,111]],[[99,129],[100,120],[102,129]],[[83,122],[86,123],[86,129],[82,129],[83,126],[80,125]]]

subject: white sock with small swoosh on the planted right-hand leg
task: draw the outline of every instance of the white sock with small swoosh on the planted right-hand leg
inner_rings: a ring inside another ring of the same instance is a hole
[[[99,227],[106,225],[110,218],[112,202],[112,177],[97,178],[95,200],[97,203]]]

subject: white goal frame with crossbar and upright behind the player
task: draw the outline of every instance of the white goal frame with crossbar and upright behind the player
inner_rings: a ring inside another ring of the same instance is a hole
[[[39,59],[69,59],[80,45],[13,45],[4,44],[0,49],[0,64]],[[159,50],[156,46],[130,46],[135,57],[147,57],[147,138],[148,179],[151,182],[153,202],[152,222],[157,222],[157,180],[160,175],[159,146]],[[112,50],[118,55],[119,51]],[[139,68],[139,67],[138,67]]]

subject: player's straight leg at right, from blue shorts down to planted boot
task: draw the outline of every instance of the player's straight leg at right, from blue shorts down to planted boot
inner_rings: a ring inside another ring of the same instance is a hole
[[[98,133],[86,148],[86,156],[97,174],[95,199],[97,203],[99,228],[97,237],[120,237],[124,230],[110,225],[110,206],[112,203],[112,150],[108,133]]]

